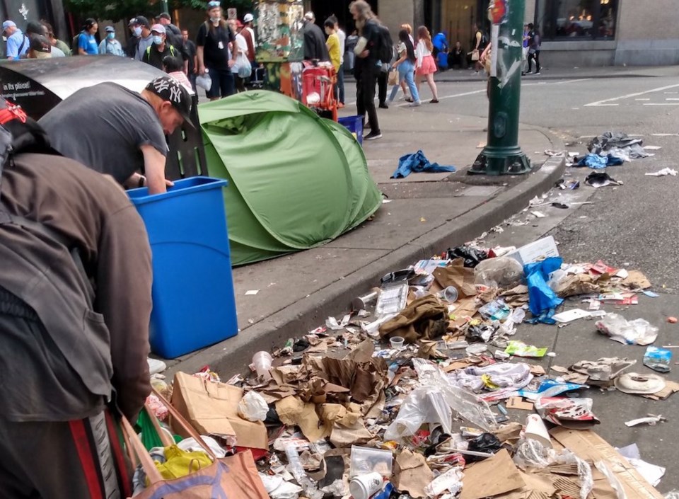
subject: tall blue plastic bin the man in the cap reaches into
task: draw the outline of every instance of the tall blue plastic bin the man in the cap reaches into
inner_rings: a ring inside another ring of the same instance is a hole
[[[151,350],[166,359],[238,333],[225,185],[219,178],[190,177],[163,194],[127,191],[153,255]]]

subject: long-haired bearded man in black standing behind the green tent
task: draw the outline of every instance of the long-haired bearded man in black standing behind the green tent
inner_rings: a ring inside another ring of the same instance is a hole
[[[359,41],[354,47],[356,54],[356,108],[359,116],[368,115],[370,133],[365,140],[382,138],[380,123],[375,109],[375,85],[381,71],[382,62],[378,57],[380,25],[376,20],[370,4],[365,0],[354,0],[349,4],[349,12],[354,18],[356,29],[359,30]]]

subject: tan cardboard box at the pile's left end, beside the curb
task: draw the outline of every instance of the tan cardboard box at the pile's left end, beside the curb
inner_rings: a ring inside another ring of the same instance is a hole
[[[172,405],[201,435],[235,436],[238,447],[269,449],[264,423],[240,418],[238,386],[208,382],[185,372],[175,374]]]

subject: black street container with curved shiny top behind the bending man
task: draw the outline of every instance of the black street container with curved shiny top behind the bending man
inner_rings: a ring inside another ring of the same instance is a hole
[[[21,105],[35,120],[81,88],[112,81],[139,92],[163,74],[149,64],[115,55],[23,59],[0,64],[2,96]],[[168,137],[166,176],[171,180],[207,175],[198,122],[198,96],[190,93],[193,98],[191,121],[195,128],[185,126]],[[105,96],[101,105],[106,105]]]

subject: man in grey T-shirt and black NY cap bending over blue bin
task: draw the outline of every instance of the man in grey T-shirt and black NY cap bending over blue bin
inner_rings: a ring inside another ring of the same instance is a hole
[[[105,105],[102,105],[102,98]],[[108,173],[129,187],[167,190],[165,135],[191,123],[192,101],[171,76],[158,76],[137,93],[106,82],[81,88],[40,118],[63,156]]]

